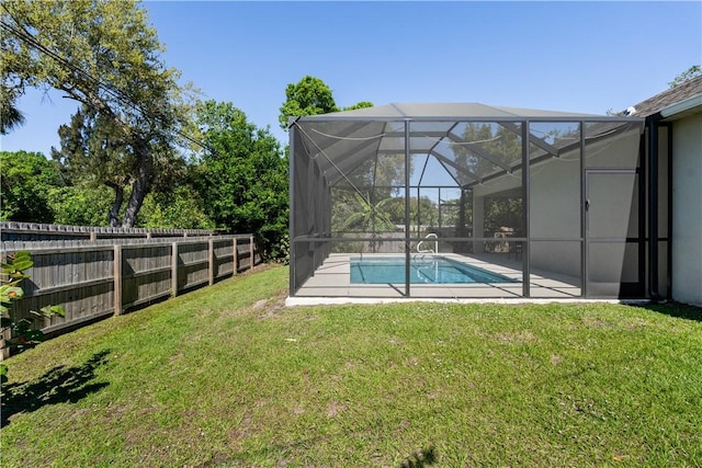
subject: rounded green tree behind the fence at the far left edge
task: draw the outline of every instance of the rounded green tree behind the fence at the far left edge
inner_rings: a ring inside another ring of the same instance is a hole
[[[42,153],[0,151],[0,220],[52,222],[48,192],[60,185],[58,164]]]

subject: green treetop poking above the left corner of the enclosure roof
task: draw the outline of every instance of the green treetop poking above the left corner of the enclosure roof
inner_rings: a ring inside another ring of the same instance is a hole
[[[319,78],[306,76],[297,84],[285,88],[286,101],[278,117],[281,128],[287,130],[288,117],[327,114],[338,112],[331,89]],[[356,104],[358,105],[358,104]]]

